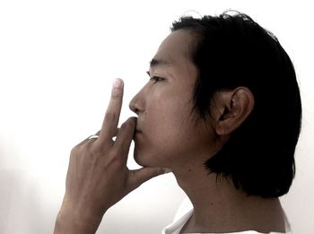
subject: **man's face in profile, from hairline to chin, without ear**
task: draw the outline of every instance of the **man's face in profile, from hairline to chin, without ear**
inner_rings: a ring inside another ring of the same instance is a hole
[[[138,115],[135,160],[140,165],[175,169],[203,163],[213,149],[213,130],[191,115],[197,75],[189,56],[192,35],[177,30],[163,40],[151,62],[150,81],[130,102]]]

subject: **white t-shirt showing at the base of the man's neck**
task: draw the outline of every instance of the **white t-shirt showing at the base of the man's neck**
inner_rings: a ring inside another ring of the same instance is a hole
[[[188,197],[183,201],[182,204],[179,206],[179,210],[176,213],[173,222],[170,223],[166,228],[164,228],[161,232],[161,234],[179,234],[180,230],[183,228],[183,226],[186,224],[186,222],[189,220],[189,218],[192,216],[193,213],[193,205],[189,201]],[[285,233],[286,234],[292,234],[289,221],[287,220],[286,216],[284,215],[284,221],[285,221]],[[232,234],[257,234],[260,232],[257,232],[255,230],[245,230],[240,232],[231,232]],[[200,233],[191,233],[191,234],[200,234]],[[214,234],[214,233],[203,233],[203,234]],[[222,233],[220,233],[222,234]],[[280,232],[270,232],[269,234],[283,234]]]

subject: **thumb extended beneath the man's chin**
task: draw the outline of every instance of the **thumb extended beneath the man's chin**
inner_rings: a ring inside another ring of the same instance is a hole
[[[129,171],[128,184],[132,190],[136,187],[141,186],[147,180],[158,177],[167,173],[166,169],[163,168],[142,168],[133,169]]]

